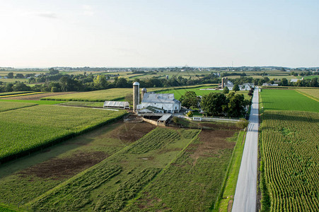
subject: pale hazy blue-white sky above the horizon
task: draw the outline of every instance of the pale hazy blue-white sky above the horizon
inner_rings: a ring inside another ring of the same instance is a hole
[[[318,0],[0,0],[0,67],[314,67],[318,11]]]

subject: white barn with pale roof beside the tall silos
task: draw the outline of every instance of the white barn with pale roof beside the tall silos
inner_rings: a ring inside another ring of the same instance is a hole
[[[164,112],[174,113],[180,112],[180,101],[175,100],[173,93],[145,93],[141,104],[137,105],[137,110],[146,107],[156,107],[164,110]]]

